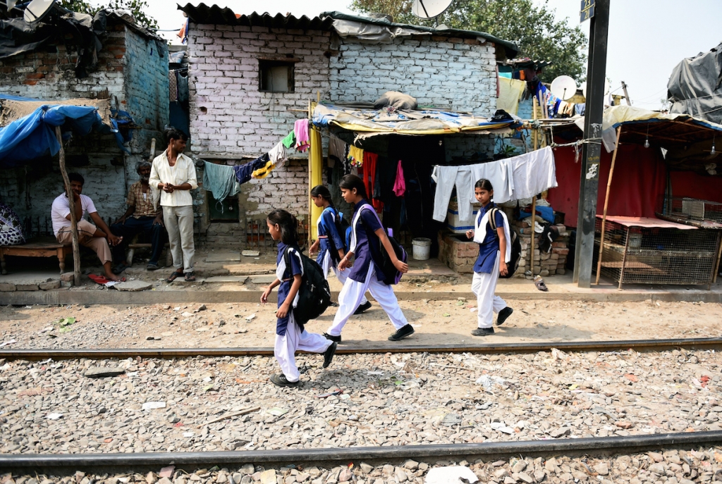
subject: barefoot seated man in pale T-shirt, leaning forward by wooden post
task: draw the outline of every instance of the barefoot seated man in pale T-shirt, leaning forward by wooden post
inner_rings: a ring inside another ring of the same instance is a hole
[[[103,264],[106,278],[110,279],[110,281],[123,280],[123,278],[113,274],[110,268],[113,258],[110,255],[110,247],[108,247],[109,242],[110,245],[117,245],[121,243],[123,238],[116,237],[113,235],[113,232],[110,232],[108,225],[106,225],[100,215],[97,214],[95,204],[92,203],[90,197],[81,194],[85,183],[82,175],[79,173],[69,173],[68,178],[75,202],[78,242],[80,245],[95,250],[97,257],[100,259],[100,263]],[[95,225],[83,219],[85,214],[90,216],[90,219],[95,222]],[[72,242],[73,232],[70,221],[70,202],[68,201],[68,195],[66,193],[61,193],[61,195],[58,195],[58,198],[53,201],[51,219],[53,219],[53,232],[55,232],[55,237],[58,239],[58,242],[61,244]]]

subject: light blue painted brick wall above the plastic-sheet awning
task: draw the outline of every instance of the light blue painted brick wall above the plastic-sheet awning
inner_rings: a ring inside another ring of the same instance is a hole
[[[386,91],[419,105],[490,116],[496,110],[496,58],[484,39],[396,38],[388,44],[341,40],[331,57],[331,100],[373,102]]]

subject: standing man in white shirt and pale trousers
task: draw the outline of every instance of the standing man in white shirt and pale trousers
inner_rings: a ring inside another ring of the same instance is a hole
[[[196,167],[193,160],[183,154],[188,137],[175,128],[165,133],[168,148],[153,160],[150,185],[159,188],[163,221],[168,231],[170,253],[175,270],[168,282],[186,273],[186,281],[196,280],[193,273],[193,256],[196,245],[193,240],[193,197],[191,191],[198,188]]]

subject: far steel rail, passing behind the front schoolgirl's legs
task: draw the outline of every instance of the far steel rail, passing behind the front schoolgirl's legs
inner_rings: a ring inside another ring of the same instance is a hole
[[[615,341],[545,341],[541,343],[490,343],[458,345],[396,346],[372,344],[367,346],[340,345],[336,354],[355,353],[534,353],[551,351],[664,351],[675,348],[718,349],[722,338],[677,338],[667,340]],[[71,359],[71,358],[193,358],[195,356],[273,356],[273,348],[67,348],[67,349],[2,349],[0,358],[6,359]]]

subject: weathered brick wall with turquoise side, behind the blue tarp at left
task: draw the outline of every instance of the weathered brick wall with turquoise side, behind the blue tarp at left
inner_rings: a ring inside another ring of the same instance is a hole
[[[127,187],[138,180],[135,165],[149,149],[149,138],[156,136],[159,146],[163,145],[157,130],[168,123],[168,48],[118,22],[108,25],[97,71],[77,79],[75,61],[74,52],[64,45],[4,59],[0,61],[0,92],[46,100],[118,97],[121,109],[131,113],[141,127],[134,130],[131,155],[118,148],[113,136],[97,133],[75,137],[66,145],[68,157],[87,156],[84,166],[69,163],[68,167],[85,177],[83,193],[92,198],[103,219],[116,219],[126,209]],[[2,175],[1,200],[20,219],[32,221],[33,234],[38,229],[45,232],[46,219],[51,230],[51,204],[63,190],[57,159],[35,160],[26,167],[3,170]]]

